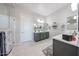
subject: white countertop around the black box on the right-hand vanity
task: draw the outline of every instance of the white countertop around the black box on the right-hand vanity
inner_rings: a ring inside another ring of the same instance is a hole
[[[63,39],[62,39],[62,34],[53,37],[53,39],[56,39],[56,40],[65,42],[65,43],[67,43],[67,44],[70,44],[70,45],[74,45],[74,46],[79,47],[78,42],[77,42],[77,41],[78,41],[78,37],[77,37],[77,36],[76,36],[76,40],[75,40],[75,41],[66,41],[66,40],[63,40]]]

